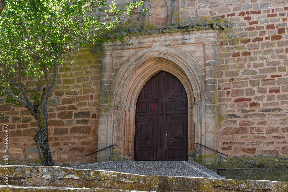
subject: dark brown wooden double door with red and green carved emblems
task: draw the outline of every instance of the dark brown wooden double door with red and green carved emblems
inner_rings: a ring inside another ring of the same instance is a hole
[[[151,77],[137,100],[134,160],[188,160],[187,116],[181,81],[164,71]]]

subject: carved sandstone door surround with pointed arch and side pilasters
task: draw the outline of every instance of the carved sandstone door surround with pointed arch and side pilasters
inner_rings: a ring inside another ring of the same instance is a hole
[[[188,158],[194,153],[194,142],[216,147],[216,33],[207,30],[135,35],[126,38],[133,43],[130,46],[120,42],[104,45],[98,150],[116,144],[113,160],[133,160],[137,98],[144,84],[159,71],[175,75],[187,92]],[[203,52],[200,57],[199,52]],[[108,150],[97,155],[98,161],[108,159]]]

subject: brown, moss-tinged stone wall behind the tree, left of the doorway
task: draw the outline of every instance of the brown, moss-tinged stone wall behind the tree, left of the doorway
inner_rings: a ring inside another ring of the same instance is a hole
[[[79,49],[64,56],[72,66],[59,67],[58,82],[48,100],[48,141],[56,165],[90,162],[97,150],[98,111],[101,79],[101,53],[95,48]],[[50,76],[53,77],[54,69]],[[42,90],[43,78],[23,77],[29,88]],[[11,107],[1,99],[0,159],[4,153],[4,123],[9,126],[10,164],[40,165],[34,136],[38,124],[25,107]],[[36,103],[34,103],[36,104]],[[96,156],[93,157],[94,162]],[[3,161],[2,161],[3,163]]]

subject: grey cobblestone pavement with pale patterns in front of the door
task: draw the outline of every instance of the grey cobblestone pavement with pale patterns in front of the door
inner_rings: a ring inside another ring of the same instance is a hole
[[[194,161],[104,161],[70,166],[70,168],[115,171],[139,175],[221,178],[214,171],[206,169]]]

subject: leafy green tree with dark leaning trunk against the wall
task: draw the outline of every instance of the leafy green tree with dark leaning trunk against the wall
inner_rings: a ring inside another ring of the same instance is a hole
[[[124,41],[120,32],[141,5],[133,1],[119,9],[106,0],[6,0],[0,13],[0,92],[6,103],[25,106],[37,120],[34,140],[43,166],[54,165],[48,145],[47,100],[55,88],[58,67],[71,64],[61,56],[82,46]],[[51,77],[48,71],[53,68]],[[22,84],[25,75],[44,77],[41,92]]]

